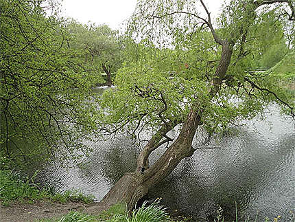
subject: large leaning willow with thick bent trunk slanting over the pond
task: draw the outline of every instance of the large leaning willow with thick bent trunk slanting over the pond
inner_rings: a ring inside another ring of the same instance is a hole
[[[253,118],[271,102],[294,118],[290,98],[272,76],[249,71],[257,64],[259,46],[272,38],[263,24],[294,21],[294,7],[290,0],[232,0],[224,5],[215,28],[202,0],[138,1],[129,33],[142,50],[130,51],[137,59],[118,71],[117,89],[104,93],[99,126],[110,134],[153,134],[139,154],[136,170],[117,181],[100,208],[125,202],[131,209],[182,159],[206,148],[192,145],[200,128],[209,134],[222,130],[239,119]],[[270,25],[268,30],[275,28]],[[188,69],[176,71],[183,63]],[[169,131],[177,127],[179,132],[171,137]],[[165,153],[150,166],[150,154],[163,144]]]

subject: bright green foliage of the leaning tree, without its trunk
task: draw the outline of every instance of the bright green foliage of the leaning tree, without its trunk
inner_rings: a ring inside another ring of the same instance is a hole
[[[99,125],[108,133],[130,131],[140,137],[144,127],[184,122],[191,107],[202,110],[209,133],[254,118],[272,102],[290,111],[286,103],[292,105],[292,97],[276,84],[277,78],[252,71],[259,62],[271,67],[287,52],[285,20],[277,19],[284,6],[266,4],[256,10],[254,3],[224,5],[215,32],[233,43],[233,56],[219,93],[211,98],[222,47],[196,5],[193,0],[138,2],[128,34],[139,43],[130,41],[117,89],[106,91],[99,101]]]

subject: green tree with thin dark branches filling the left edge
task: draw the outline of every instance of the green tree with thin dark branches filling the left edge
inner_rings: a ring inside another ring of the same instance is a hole
[[[82,157],[95,129],[91,76],[52,3],[0,1],[1,153],[28,164]]]

